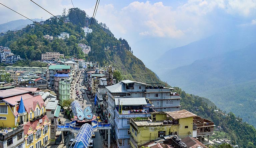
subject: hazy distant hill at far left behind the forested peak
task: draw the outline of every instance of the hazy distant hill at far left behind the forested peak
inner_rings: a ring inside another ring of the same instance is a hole
[[[33,21],[40,22],[41,19],[32,19]],[[44,20],[43,20],[44,21]],[[0,32],[6,32],[8,30],[20,30],[24,27],[26,27],[28,24],[32,24],[33,22],[29,19],[20,19],[15,21],[10,21],[4,24],[0,24]]]

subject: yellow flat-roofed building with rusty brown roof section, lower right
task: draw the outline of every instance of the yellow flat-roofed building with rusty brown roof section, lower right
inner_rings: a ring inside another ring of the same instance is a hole
[[[166,135],[176,134],[180,138],[192,136],[193,117],[196,115],[186,111],[152,112],[149,118],[131,118],[130,141],[132,148],[163,138]]]

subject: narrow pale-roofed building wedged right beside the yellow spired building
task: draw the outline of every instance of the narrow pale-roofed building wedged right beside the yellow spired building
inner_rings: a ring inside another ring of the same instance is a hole
[[[50,144],[55,144],[55,135],[56,135],[56,125],[58,123],[58,117],[60,114],[60,106],[58,105],[58,100],[56,97],[48,97],[45,100],[46,104],[46,115],[51,121],[50,125]]]

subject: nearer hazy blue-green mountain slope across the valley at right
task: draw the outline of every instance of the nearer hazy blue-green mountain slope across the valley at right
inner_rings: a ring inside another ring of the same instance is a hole
[[[256,126],[256,43],[190,65],[169,70],[172,86],[209,98]],[[245,111],[246,109],[246,111]]]

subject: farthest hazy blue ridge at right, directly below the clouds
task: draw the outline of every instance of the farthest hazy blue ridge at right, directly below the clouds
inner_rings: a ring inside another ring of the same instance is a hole
[[[252,29],[253,30],[253,29]],[[254,29],[254,31],[256,31]],[[152,70],[165,80],[166,72],[180,66],[192,64],[196,60],[210,58],[228,51],[241,49],[255,40],[253,31],[218,33],[188,45],[170,49],[154,61]],[[168,65],[168,66],[166,66]]]

